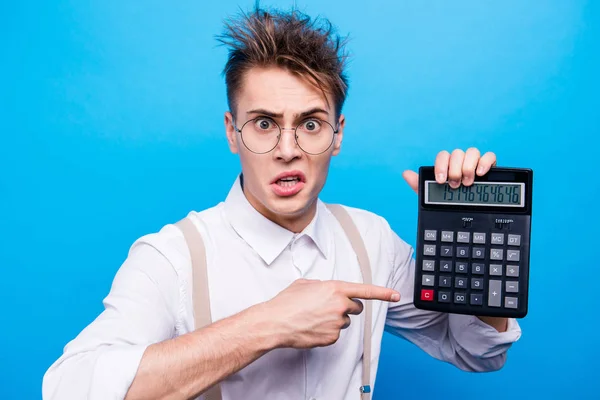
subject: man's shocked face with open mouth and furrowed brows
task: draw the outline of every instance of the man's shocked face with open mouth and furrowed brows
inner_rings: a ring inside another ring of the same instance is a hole
[[[267,218],[290,230],[300,231],[310,223],[331,157],[340,151],[345,119],[341,116],[336,120],[333,107],[331,98],[327,101],[309,82],[273,67],[246,72],[237,95],[235,121],[231,113],[225,113],[227,140],[231,151],[240,156],[248,201]],[[283,129],[277,146],[264,154],[248,150],[233,125],[235,122],[241,129],[245,122],[257,117],[261,119],[249,124],[263,128],[275,121]],[[303,122],[308,124],[303,126],[313,128],[310,120],[315,118],[339,129],[332,145],[318,155],[304,152],[292,130]]]

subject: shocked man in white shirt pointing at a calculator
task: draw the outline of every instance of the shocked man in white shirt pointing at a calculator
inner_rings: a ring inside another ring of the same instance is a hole
[[[188,216],[206,246],[215,322],[194,326],[190,252],[166,225],[132,246],[105,311],[46,373],[44,398],[188,399],[220,383],[224,399],[357,399],[364,300],[373,377],[384,329],[458,368],[501,368],[516,321],[416,309],[411,248],[382,217],[346,207],[372,268],[373,284],[361,283],[318,198],[344,136],[339,39],[298,12],[262,10],[221,39],[231,48],[225,130],[242,174],[224,202]],[[470,185],[495,163],[476,149],[440,152],[436,176]],[[416,190],[416,174],[404,177]]]

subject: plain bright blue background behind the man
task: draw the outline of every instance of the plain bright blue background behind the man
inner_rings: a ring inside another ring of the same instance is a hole
[[[0,398],[41,397],[137,237],[225,197],[239,163],[214,35],[252,2],[215,3],[0,5]],[[352,37],[325,200],[414,244],[404,169],[477,146],[536,173],[530,313],[506,366],[461,372],[386,335],[375,399],[598,396],[599,5],[298,2]]]

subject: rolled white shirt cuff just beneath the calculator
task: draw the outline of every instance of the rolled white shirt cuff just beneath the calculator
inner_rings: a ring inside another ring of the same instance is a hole
[[[506,332],[498,332],[473,315],[450,314],[450,332],[460,347],[479,358],[490,358],[506,352],[521,337],[521,327],[508,319]]]

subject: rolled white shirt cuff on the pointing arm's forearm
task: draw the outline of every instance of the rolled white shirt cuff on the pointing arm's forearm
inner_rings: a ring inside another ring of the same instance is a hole
[[[146,345],[112,345],[96,359],[89,395],[93,400],[124,399]]]

